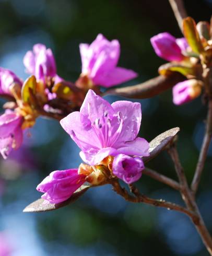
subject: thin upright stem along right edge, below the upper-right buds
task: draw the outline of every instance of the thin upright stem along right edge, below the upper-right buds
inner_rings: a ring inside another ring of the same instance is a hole
[[[208,148],[211,141],[211,136],[212,136],[212,99],[210,99],[208,102],[208,114],[207,114],[207,121],[206,121],[205,136],[203,139],[201,151],[199,153],[199,159],[197,162],[194,178],[191,184],[191,189],[194,194],[196,193],[199,182],[201,180],[201,175],[204,169],[205,160],[207,157],[207,152],[208,152]]]

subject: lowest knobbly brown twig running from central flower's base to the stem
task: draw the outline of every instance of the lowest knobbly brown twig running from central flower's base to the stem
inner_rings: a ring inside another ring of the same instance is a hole
[[[150,197],[147,197],[146,195],[140,194],[137,189],[132,189],[132,188],[135,188],[135,187],[133,187],[132,184],[130,185],[130,187],[132,189],[132,192],[135,194],[135,196],[129,194],[126,191],[126,189],[122,188],[118,180],[111,180],[111,184],[113,186],[113,190],[117,194],[124,197],[124,199],[126,201],[129,201],[132,203],[145,203],[145,204],[149,204],[152,206],[167,208],[167,210],[175,210],[175,211],[189,215],[191,218],[195,219],[195,222],[198,222],[198,217],[196,216],[195,213],[193,213],[190,210],[187,210],[186,208],[184,208],[178,204],[167,202],[162,199],[160,199],[160,200],[152,199]]]

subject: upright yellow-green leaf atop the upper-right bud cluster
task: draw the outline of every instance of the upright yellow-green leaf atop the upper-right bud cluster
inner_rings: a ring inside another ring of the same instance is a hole
[[[191,17],[183,19],[183,33],[191,49],[195,53],[201,54],[204,51],[203,45],[199,38],[195,21]]]

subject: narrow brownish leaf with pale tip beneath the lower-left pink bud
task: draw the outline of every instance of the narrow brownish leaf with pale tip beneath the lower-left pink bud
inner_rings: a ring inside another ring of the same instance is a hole
[[[56,210],[58,208],[64,207],[68,204],[74,203],[81,195],[83,195],[91,186],[90,185],[81,185],[81,187],[75,191],[75,193],[69,197],[64,202],[58,204],[43,204],[43,199],[38,199],[33,203],[29,204],[24,210],[24,213],[38,213],[38,212],[49,212]]]

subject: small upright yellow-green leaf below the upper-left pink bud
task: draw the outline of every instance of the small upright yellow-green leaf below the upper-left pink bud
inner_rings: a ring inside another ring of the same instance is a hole
[[[23,83],[22,89],[21,89],[21,98],[23,102],[29,103],[30,100],[30,90],[32,94],[36,93],[36,77],[30,76],[27,78],[27,80]]]

